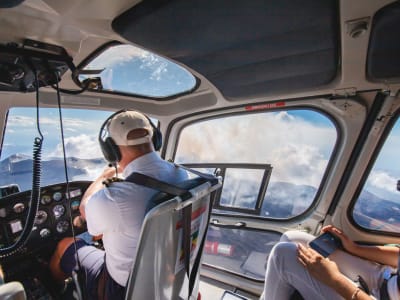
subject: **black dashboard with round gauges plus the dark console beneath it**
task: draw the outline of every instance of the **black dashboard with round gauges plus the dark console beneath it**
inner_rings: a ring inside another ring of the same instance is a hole
[[[73,181],[40,189],[39,207],[26,243],[17,251],[0,257],[5,282],[23,284],[28,300],[71,299],[68,292],[50,273],[49,260],[60,239],[87,234],[80,218],[79,205],[91,181]],[[23,232],[31,191],[0,198],[0,248],[15,244]]]

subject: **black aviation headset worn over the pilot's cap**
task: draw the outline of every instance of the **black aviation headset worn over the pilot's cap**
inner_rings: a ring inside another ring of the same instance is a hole
[[[110,164],[116,164],[121,160],[121,152],[119,151],[119,148],[117,144],[114,142],[112,137],[109,136],[108,133],[108,126],[110,125],[111,120],[118,114],[126,112],[126,111],[135,111],[135,110],[130,110],[130,109],[121,109],[115,113],[113,113],[111,116],[107,118],[107,120],[104,121],[103,125],[101,125],[100,132],[99,132],[99,143],[100,143],[100,148],[101,151],[103,152],[104,158],[110,163]],[[153,122],[150,120],[148,116],[143,114],[147,120],[149,120],[150,126],[153,129],[153,136],[152,136],[152,142],[154,145],[154,149],[156,151],[161,149],[162,145],[162,133],[160,129],[153,124]]]

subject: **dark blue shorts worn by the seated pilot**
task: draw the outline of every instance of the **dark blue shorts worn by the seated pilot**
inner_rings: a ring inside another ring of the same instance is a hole
[[[89,299],[124,299],[125,287],[119,285],[110,276],[105,266],[105,252],[88,245],[84,240],[76,240],[77,256],[83,277],[86,281],[86,293]],[[61,270],[71,275],[78,270],[75,245],[70,245],[60,261]],[[103,291],[99,291],[99,279],[102,278]],[[82,283],[81,283],[82,284]]]

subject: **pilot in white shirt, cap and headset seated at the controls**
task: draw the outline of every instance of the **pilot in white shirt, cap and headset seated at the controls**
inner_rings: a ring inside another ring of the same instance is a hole
[[[103,124],[102,130],[108,131],[112,138],[111,147],[120,152],[119,171],[124,178],[139,172],[172,184],[187,179],[186,171],[162,160],[155,151],[152,136],[158,129],[150,122],[142,113],[122,111]],[[101,141],[100,145],[104,147]],[[89,299],[123,299],[146,205],[156,193],[123,181],[105,187],[103,182],[116,176],[115,171],[115,168],[106,168],[89,186],[80,204],[88,232],[93,236],[102,235],[104,245],[103,251],[77,240],[79,264],[85,273]],[[73,238],[65,238],[51,258],[50,269],[57,279],[64,280],[71,276],[76,265]]]

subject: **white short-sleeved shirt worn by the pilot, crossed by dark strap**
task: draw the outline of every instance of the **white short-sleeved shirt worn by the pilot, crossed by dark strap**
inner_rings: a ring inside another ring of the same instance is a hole
[[[161,159],[157,152],[129,163],[124,178],[132,172],[172,184],[188,178],[186,171]],[[115,182],[93,194],[85,207],[88,231],[103,235],[107,270],[122,286],[126,286],[136,255],[146,205],[155,193],[154,189],[131,182]]]

